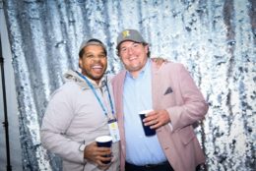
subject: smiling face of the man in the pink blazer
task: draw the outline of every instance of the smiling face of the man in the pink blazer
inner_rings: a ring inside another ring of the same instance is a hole
[[[137,77],[147,62],[148,51],[148,45],[134,41],[124,41],[119,46],[118,54],[126,70]]]

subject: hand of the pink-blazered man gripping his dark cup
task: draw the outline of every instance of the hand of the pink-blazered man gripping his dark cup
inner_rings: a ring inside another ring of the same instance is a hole
[[[143,122],[145,126],[151,126],[151,129],[158,129],[169,123],[170,118],[166,110],[152,111],[147,114]]]

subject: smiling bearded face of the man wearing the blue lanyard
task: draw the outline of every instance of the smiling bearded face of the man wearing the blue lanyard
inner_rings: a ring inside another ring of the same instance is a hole
[[[103,47],[100,45],[86,46],[83,56],[79,58],[79,66],[83,75],[98,84],[107,67],[107,59]]]

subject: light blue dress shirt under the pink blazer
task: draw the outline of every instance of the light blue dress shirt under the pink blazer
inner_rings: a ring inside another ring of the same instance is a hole
[[[124,126],[126,161],[135,165],[157,164],[166,161],[157,135],[146,137],[139,112],[153,109],[151,61],[134,79],[127,72],[124,83]]]

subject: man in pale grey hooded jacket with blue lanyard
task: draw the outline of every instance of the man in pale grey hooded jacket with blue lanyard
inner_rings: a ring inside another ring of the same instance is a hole
[[[111,148],[97,147],[95,142],[96,137],[110,132],[113,137],[109,121],[116,122],[112,87],[104,75],[106,56],[101,41],[84,41],[79,52],[81,72],[66,73],[66,83],[52,94],[48,103],[41,125],[41,142],[62,157],[64,171],[119,170],[118,129]],[[109,160],[109,164],[103,163]]]

